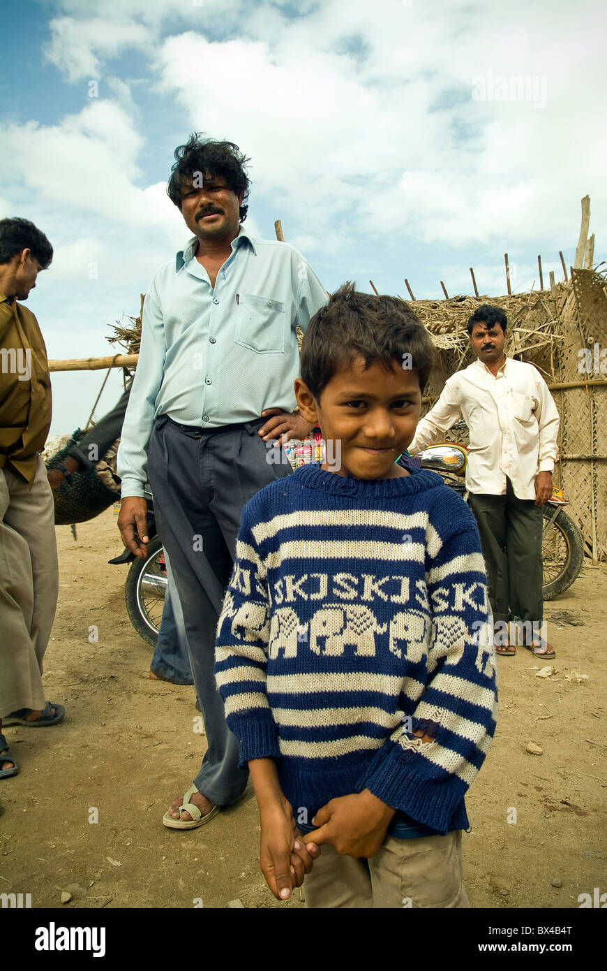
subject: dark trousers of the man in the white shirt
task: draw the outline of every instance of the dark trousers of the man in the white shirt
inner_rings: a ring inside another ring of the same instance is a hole
[[[542,508],[518,499],[506,479],[505,495],[472,494],[481,534],[494,620],[543,619]]]

